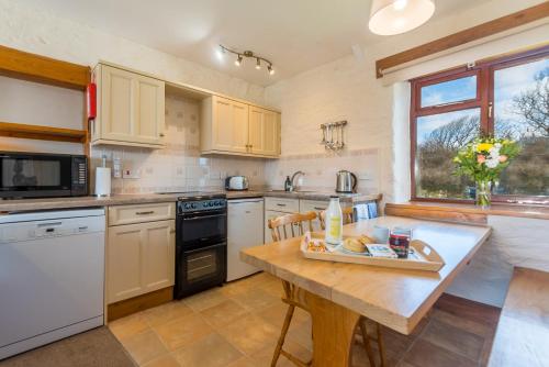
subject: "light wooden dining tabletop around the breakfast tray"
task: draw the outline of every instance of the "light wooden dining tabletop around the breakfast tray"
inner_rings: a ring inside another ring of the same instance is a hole
[[[344,226],[347,235],[371,234],[373,225],[410,226],[445,259],[438,271],[391,269],[303,257],[301,238],[255,246],[240,258],[303,289],[400,333],[410,334],[491,233],[488,226],[381,216]]]

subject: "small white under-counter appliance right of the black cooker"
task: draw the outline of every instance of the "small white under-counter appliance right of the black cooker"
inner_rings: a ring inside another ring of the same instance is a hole
[[[228,200],[227,209],[227,281],[259,271],[243,263],[243,248],[264,244],[264,199]]]

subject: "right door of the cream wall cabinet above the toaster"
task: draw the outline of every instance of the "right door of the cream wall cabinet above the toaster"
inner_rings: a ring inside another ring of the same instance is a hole
[[[280,154],[279,113],[254,105],[249,108],[249,145],[254,154]]]

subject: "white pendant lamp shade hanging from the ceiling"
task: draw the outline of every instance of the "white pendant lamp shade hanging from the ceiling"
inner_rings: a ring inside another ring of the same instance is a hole
[[[373,0],[368,26],[380,35],[401,34],[427,22],[434,12],[432,0]]]

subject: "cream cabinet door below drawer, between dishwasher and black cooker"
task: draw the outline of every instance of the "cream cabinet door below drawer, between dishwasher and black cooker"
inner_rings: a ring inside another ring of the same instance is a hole
[[[175,220],[109,227],[108,303],[173,286]]]

